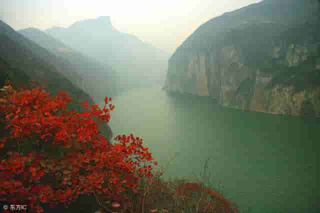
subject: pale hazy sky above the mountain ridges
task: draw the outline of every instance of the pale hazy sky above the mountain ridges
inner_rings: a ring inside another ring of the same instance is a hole
[[[120,31],[170,53],[212,17],[261,0],[0,0],[0,19],[14,29],[69,26],[110,16]]]

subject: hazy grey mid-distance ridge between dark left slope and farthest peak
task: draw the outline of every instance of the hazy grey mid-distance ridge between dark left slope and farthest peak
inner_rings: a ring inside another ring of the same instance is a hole
[[[72,66],[72,70],[83,78],[81,88],[88,92],[95,101],[101,101],[105,95],[111,96],[116,93],[115,71],[110,66],[73,50],[39,29],[26,28],[18,32],[67,61]]]

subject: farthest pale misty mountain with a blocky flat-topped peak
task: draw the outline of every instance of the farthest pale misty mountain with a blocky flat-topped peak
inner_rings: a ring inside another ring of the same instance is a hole
[[[110,17],[81,20],[67,28],[52,27],[46,33],[116,70],[119,87],[163,83],[169,55],[115,29]]]

